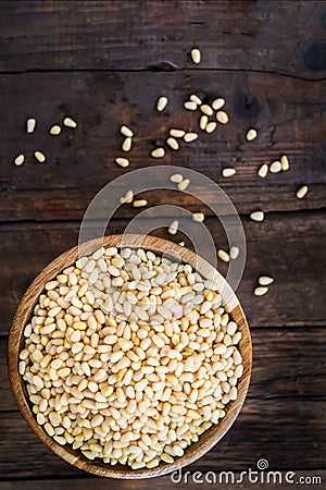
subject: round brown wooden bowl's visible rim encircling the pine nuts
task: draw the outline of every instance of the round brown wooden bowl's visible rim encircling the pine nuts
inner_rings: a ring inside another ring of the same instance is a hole
[[[124,236],[124,238],[123,238]],[[93,240],[83,244],[83,255],[90,255],[102,245],[105,247],[116,246],[118,247],[124,240],[126,242],[126,235],[111,235],[105,236],[103,240]],[[209,278],[209,274],[215,272],[215,269],[209,265],[205,260],[198,257],[195,253],[185,247],[170,242],[167,240],[156,238],[154,236],[139,236],[127,235],[127,244],[130,248],[139,247],[139,240],[141,240],[141,247],[147,250],[152,250],[159,255],[166,255],[173,258],[175,253],[184,262],[190,264],[202,277]],[[177,457],[172,464],[161,462],[159,466],[152,469],[141,468],[134,470],[127,466],[104,464],[103,462],[89,461],[78,450],[73,450],[68,445],[60,445],[39,426],[32,412],[30,402],[25,387],[25,382],[18,373],[18,354],[24,343],[24,327],[33,316],[33,309],[36,305],[40,294],[45,290],[45,285],[50,280],[54,279],[64,268],[73,265],[78,258],[78,247],[71,248],[63,253],[49,264],[33,281],[26,293],[24,294],[15,316],[13,318],[12,327],[9,335],[8,344],[8,365],[9,377],[14,392],[17,405],[34,430],[37,437],[55,454],[61,456],[66,462],[71,463],[77,468],[84,469],[91,474],[111,477],[111,478],[149,478],[158,477],[170,471],[174,471],[183,466],[189,465],[193,461],[205,454],[228,431],[230,426],[237,418],[240,408],[243,404],[251,373],[252,363],[252,347],[249,327],[242,311],[242,308],[235,295],[227,304],[224,305],[226,311],[230,314],[230,317],[238,324],[238,330],[242,333],[241,341],[239,343],[239,350],[243,359],[243,375],[238,380],[238,397],[236,401],[229,402],[225,417],[218,422],[213,425],[209,430],[200,436],[199,441],[192,443],[185,450],[185,454]],[[218,273],[217,282],[221,283],[221,290],[226,286],[229,291],[229,286],[226,284],[224,278]]]

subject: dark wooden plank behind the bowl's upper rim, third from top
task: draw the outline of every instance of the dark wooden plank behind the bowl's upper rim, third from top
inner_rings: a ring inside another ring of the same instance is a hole
[[[216,219],[205,221],[217,248],[227,247]],[[113,220],[108,233],[122,233],[126,221]],[[325,215],[322,211],[268,216],[264,222],[243,220],[248,256],[238,295],[251,327],[325,326]],[[0,333],[7,333],[28,283],[55,256],[77,244],[79,223],[1,225]],[[153,234],[172,238],[166,229]],[[180,241],[179,233],[173,240]],[[187,241],[187,245],[191,245]],[[318,254],[316,256],[316,253]],[[318,260],[316,260],[318,257]],[[218,269],[226,273],[225,262]],[[255,297],[260,274],[272,274],[267,296]]]

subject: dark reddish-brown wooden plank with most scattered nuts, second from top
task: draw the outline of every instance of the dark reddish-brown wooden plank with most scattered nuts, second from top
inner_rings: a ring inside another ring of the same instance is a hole
[[[326,181],[325,88],[326,82],[238,72],[3,75],[0,105],[7,111],[0,121],[0,220],[80,219],[93,195],[126,172],[114,163],[115,157],[122,156],[123,123],[136,133],[127,170],[152,164],[197,170],[221,184],[241,213],[256,207],[265,211],[321,208],[325,206]],[[201,132],[197,142],[181,144],[179,151],[170,149],[163,159],[151,158],[151,150],[164,143],[168,128],[198,131],[199,113],[183,107],[191,93],[208,95],[209,100],[224,96],[230,123],[211,135]],[[170,105],[159,113],[154,106],[162,94],[170,97]],[[75,118],[79,127],[65,128],[58,137],[48,135],[49,127],[65,114]],[[38,125],[27,135],[25,121],[30,115]],[[260,130],[252,143],[244,138],[250,126]],[[36,149],[47,155],[45,164],[35,162]],[[18,168],[13,159],[21,151],[26,154],[26,162]],[[256,175],[263,162],[284,152],[289,156],[290,171],[266,179]],[[237,174],[223,179],[221,171],[229,166]],[[310,192],[300,200],[296,191],[302,184],[308,184]],[[121,195],[125,191],[122,188]],[[156,205],[173,199],[195,206],[193,198],[184,200],[177,194],[152,193],[149,201]],[[122,207],[118,216],[133,216],[131,207]]]

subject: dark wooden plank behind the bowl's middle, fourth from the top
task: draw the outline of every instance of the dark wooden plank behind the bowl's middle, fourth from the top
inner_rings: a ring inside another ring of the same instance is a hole
[[[250,399],[326,399],[325,329],[252,329]],[[7,338],[0,338],[0,412],[17,411],[7,372]],[[312,356],[311,353],[314,353]]]

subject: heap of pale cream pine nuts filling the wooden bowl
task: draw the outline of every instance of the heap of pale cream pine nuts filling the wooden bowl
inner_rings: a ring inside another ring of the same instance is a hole
[[[241,333],[217,285],[142,248],[100,248],[46,285],[20,373],[37,422],[89,460],[172,463],[237,399]]]

